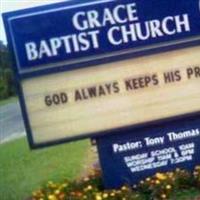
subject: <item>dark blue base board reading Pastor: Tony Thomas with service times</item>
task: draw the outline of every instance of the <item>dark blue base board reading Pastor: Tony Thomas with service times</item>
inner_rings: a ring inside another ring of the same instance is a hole
[[[200,118],[96,138],[107,188],[133,186],[157,172],[200,164]]]

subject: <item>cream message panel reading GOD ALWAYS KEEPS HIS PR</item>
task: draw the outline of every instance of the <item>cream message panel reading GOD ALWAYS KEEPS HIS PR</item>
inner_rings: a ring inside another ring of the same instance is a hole
[[[24,80],[35,144],[200,111],[200,47]]]

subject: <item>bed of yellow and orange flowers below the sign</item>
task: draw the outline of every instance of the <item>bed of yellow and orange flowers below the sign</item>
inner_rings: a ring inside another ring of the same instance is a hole
[[[49,181],[45,187],[33,192],[32,200],[142,200],[170,199],[180,190],[200,190],[200,166],[193,173],[176,169],[174,172],[157,173],[138,185],[124,185],[118,190],[104,190],[100,170],[79,181],[61,184]]]

